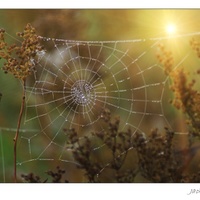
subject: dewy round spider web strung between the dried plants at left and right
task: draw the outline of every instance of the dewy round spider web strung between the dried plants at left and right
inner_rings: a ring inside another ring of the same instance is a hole
[[[24,120],[24,127],[38,131],[21,133],[18,165],[76,164],[66,149],[63,129],[74,128],[80,136],[101,131],[105,109],[120,116],[121,130],[131,128],[133,134],[172,127],[169,77],[157,61],[158,44],[172,45],[176,40],[184,46],[176,54],[177,68],[187,63],[192,52],[185,38],[198,34],[125,41],[40,37],[45,50],[32,60],[35,70],[25,88]]]

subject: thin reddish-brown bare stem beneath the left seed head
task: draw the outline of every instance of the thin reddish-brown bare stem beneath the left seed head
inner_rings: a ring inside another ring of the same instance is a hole
[[[23,81],[22,102],[21,102],[21,108],[20,108],[20,113],[19,113],[18,122],[17,122],[17,131],[13,139],[14,140],[14,182],[15,183],[17,182],[17,141],[19,137],[19,129],[20,129],[21,120],[22,120],[24,107],[25,107],[25,80],[22,80],[22,81]]]

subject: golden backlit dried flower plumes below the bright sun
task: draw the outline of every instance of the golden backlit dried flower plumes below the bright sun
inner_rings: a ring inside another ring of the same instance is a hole
[[[200,57],[200,43],[194,39],[190,42],[192,48]],[[159,45],[160,54],[157,55],[159,62],[163,65],[166,75],[171,79],[171,90],[174,93],[172,104],[182,110],[188,117],[194,132],[200,132],[200,94],[194,89],[195,80],[188,82],[189,74],[183,68],[173,69],[173,56],[163,45]],[[197,74],[199,74],[197,71]]]

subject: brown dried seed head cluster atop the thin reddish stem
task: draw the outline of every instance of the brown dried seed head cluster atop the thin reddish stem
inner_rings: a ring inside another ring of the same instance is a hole
[[[0,58],[6,61],[3,66],[5,73],[9,72],[15,78],[25,80],[32,73],[34,60],[38,52],[43,51],[43,47],[30,24],[27,24],[24,31],[17,35],[23,39],[21,46],[8,45],[5,41],[5,30],[0,29]]]

